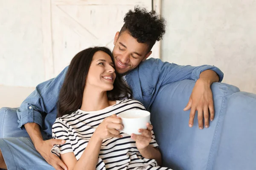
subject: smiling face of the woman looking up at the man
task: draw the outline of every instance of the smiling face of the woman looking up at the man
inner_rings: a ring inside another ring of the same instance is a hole
[[[85,86],[99,91],[111,91],[116,79],[114,64],[111,57],[103,52],[97,51],[91,62]]]

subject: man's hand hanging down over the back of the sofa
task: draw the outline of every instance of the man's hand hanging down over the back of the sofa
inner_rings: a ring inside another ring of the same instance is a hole
[[[204,125],[205,127],[209,127],[209,112],[210,120],[212,121],[214,119],[211,84],[209,80],[204,78],[198,79],[195,83],[189,102],[184,108],[184,111],[191,109],[189,114],[189,127],[193,126],[196,111],[198,111],[198,126],[200,129],[203,129]]]

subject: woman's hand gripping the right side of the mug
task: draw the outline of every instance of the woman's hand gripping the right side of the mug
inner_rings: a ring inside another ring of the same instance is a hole
[[[131,139],[134,139],[136,142],[136,147],[138,150],[145,149],[149,143],[151,142],[152,133],[151,130],[153,129],[153,126],[147,123],[147,129],[139,129],[138,132],[140,132],[140,135],[131,134]]]

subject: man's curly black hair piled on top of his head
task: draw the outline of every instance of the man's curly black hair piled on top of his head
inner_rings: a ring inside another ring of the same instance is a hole
[[[162,39],[165,33],[166,20],[161,15],[148,12],[138,6],[135,6],[134,11],[129,10],[125,14],[124,22],[120,34],[129,31],[138,42],[148,44],[148,51],[156,41]]]

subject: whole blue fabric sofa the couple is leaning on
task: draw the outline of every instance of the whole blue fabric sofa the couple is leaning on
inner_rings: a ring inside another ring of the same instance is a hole
[[[163,86],[151,106],[151,122],[163,157],[173,170],[256,170],[256,94],[213,83],[215,119],[208,128],[188,126],[183,111],[195,82],[183,80]],[[28,136],[25,130],[9,133],[5,123],[17,123],[15,108],[0,109],[0,137]]]

